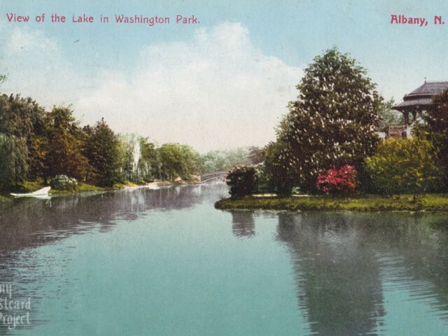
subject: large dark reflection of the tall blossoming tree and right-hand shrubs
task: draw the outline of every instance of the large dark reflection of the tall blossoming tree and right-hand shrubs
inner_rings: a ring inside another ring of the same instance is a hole
[[[279,214],[301,311],[317,335],[375,335],[384,281],[448,311],[447,220],[412,214]]]

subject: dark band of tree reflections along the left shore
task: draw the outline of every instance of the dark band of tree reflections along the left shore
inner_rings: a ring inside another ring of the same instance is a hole
[[[186,209],[211,197],[216,186],[179,186],[149,190],[118,190],[52,197],[49,200],[22,198],[14,200],[0,213],[0,258],[15,251],[69,235],[77,235],[100,225],[110,230],[115,221],[133,220],[147,211]],[[226,188],[223,185],[222,193]]]

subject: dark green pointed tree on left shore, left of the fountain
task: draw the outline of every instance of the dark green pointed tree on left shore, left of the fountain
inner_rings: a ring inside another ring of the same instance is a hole
[[[113,186],[120,181],[120,141],[106,124],[99,120],[88,132],[85,155],[94,169],[93,182],[99,186]]]

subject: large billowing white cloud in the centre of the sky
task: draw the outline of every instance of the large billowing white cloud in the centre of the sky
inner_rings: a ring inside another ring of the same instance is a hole
[[[189,41],[149,45],[132,73],[104,73],[76,109],[121,132],[200,151],[263,145],[297,95],[301,70],[266,56],[248,30],[225,22]]]

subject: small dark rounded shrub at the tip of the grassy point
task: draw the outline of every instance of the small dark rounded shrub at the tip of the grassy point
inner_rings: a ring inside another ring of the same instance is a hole
[[[250,195],[255,187],[255,169],[238,165],[230,169],[226,182],[232,197]]]

